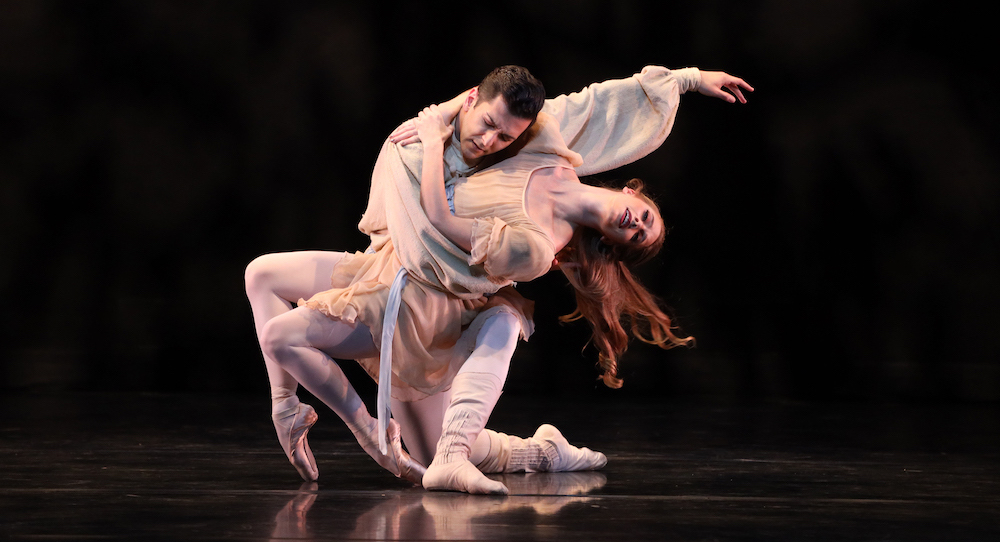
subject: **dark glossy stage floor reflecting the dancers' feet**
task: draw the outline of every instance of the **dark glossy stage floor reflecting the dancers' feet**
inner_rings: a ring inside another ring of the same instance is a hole
[[[11,540],[1000,540],[1000,406],[504,396],[490,426],[556,424],[599,472],[496,476],[508,497],[383,472],[317,406],[302,484],[266,397],[0,401]]]

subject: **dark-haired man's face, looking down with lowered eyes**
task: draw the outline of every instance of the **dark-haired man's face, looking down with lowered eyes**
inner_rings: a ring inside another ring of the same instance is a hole
[[[506,148],[531,125],[530,120],[511,115],[501,95],[487,102],[473,91],[466,103],[459,118],[458,140],[462,158],[470,166]]]

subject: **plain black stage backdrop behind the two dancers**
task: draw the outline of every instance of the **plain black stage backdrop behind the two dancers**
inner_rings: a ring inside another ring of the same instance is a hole
[[[508,393],[1000,399],[982,10],[420,4],[0,4],[0,387],[263,395],[244,267],[363,249],[394,126],[500,64],[549,96],[660,64],[757,88],[685,95],[660,150],[601,177],[652,185],[673,230],[642,277],[698,347],[636,345],[604,390],[549,276],[520,287],[538,327]]]

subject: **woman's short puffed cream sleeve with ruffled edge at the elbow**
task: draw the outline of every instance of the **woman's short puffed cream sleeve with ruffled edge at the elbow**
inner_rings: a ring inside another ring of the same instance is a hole
[[[499,218],[476,218],[469,265],[483,265],[491,277],[529,281],[549,271],[555,251],[547,237]]]

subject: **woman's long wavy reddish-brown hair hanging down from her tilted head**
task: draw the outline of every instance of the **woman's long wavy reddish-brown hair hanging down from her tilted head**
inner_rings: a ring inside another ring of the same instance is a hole
[[[632,179],[626,186],[656,208],[659,207],[643,193],[643,184]],[[629,334],[642,342],[668,349],[691,346],[694,337],[678,337],[677,329],[663,311],[659,299],[639,283],[630,266],[648,261],[655,256],[667,235],[667,228],[660,228],[660,236],[648,247],[609,245],[601,240],[600,232],[579,228],[573,239],[559,253],[559,268],[576,291],[576,310],[559,317],[563,322],[585,318],[591,326],[591,341],[598,350],[598,364],[604,371],[601,379],[610,388],[620,388],[618,359],[628,348]]]

